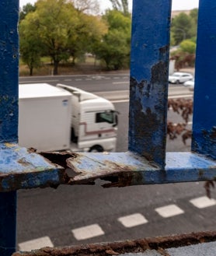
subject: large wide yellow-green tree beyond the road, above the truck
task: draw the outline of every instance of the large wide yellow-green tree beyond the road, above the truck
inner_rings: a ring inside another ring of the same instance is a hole
[[[20,22],[20,52],[33,54],[33,49],[26,47],[26,42],[40,42],[41,51],[38,56],[50,56],[54,65],[54,75],[57,75],[61,61],[72,57],[73,61],[79,55],[92,51],[92,44],[101,40],[106,26],[97,16],[91,16],[78,9],[67,0],[38,0],[34,12],[29,12]],[[31,35],[31,39],[27,38]],[[23,38],[22,38],[23,37]],[[24,40],[25,39],[25,40]],[[23,58],[28,65],[29,60]],[[37,62],[37,61],[35,61]]]

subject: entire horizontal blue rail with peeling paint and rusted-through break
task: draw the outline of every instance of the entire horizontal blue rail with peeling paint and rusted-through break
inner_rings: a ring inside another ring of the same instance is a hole
[[[164,170],[131,152],[40,154],[4,144],[0,148],[0,191],[95,184],[97,179],[106,181],[103,187],[110,188],[216,178],[216,163],[196,153],[166,153]]]

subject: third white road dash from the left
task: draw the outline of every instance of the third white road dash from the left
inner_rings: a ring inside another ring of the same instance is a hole
[[[148,220],[145,219],[145,216],[140,213],[134,213],[132,215],[120,217],[118,221],[125,227],[139,226],[145,223],[148,223]]]

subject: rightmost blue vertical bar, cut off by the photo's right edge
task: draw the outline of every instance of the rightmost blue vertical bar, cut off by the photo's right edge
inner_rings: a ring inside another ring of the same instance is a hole
[[[192,150],[216,159],[216,2],[200,0]]]

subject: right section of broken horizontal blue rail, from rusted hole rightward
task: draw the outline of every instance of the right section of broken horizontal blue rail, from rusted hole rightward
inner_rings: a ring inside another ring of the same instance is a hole
[[[127,153],[41,153],[45,158],[70,168],[64,184],[95,184],[104,188],[138,184],[208,181],[216,177],[216,163],[196,153],[166,153],[162,170],[137,154]],[[66,175],[66,174],[65,174]]]

